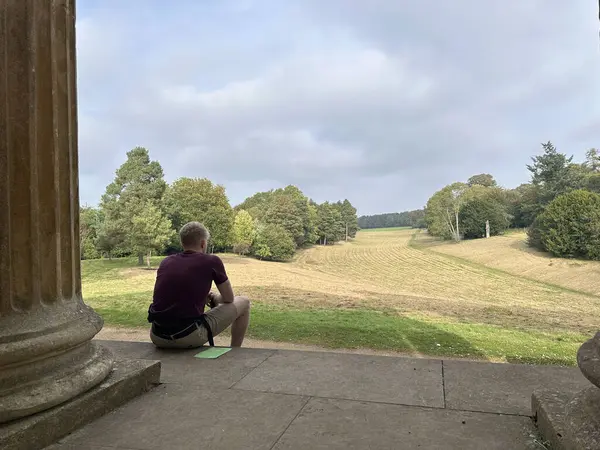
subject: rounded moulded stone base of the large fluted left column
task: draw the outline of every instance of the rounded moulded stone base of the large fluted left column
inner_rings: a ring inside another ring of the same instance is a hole
[[[91,339],[100,318],[80,299],[0,317],[0,424],[66,402],[110,373]]]

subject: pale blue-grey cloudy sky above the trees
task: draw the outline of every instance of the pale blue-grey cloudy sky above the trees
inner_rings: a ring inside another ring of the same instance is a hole
[[[360,214],[600,146],[592,0],[77,4],[82,203],[137,145],[233,204],[295,184]]]

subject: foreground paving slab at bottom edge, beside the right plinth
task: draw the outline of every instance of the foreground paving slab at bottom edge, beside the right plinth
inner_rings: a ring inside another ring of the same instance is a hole
[[[312,399],[274,450],[533,450],[534,436],[527,417]]]

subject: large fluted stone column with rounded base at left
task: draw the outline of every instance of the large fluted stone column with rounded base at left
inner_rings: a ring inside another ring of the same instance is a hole
[[[74,0],[0,0],[0,423],[104,380],[79,256]]]

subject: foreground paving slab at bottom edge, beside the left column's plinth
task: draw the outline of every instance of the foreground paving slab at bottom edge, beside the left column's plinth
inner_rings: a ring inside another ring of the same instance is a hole
[[[82,449],[85,444],[138,450],[268,450],[307,400],[166,384],[73,433],[57,449]]]

